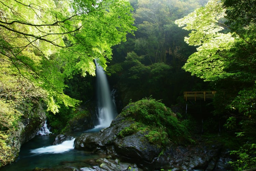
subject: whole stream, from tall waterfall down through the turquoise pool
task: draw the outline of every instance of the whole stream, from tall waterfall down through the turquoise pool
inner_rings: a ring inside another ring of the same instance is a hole
[[[111,94],[109,89],[105,71],[96,60],[95,64],[98,98],[96,113],[99,125],[94,129],[84,131],[88,133],[99,132],[102,128],[108,127],[115,116],[117,116],[113,99],[114,95]],[[84,132],[79,132],[71,136],[76,137]],[[90,152],[75,150],[75,138],[58,145],[52,145],[56,136],[51,135],[45,121],[43,127],[38,131],[38,135],[23,144],[20,148],[16,161],[9,166],[1,168],[0,171],[32,171],[35,168],[54,168],[56,170],[73,168],[72,170],[83,170],[81,168],[91,167],[87,164],[89,159],[100,157],[99,154],[90,154]]]

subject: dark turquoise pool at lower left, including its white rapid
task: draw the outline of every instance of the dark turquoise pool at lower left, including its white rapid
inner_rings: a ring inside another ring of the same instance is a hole
[[[86,132],[99,130],[98,128]],[[90,167],[88,165],[89,159],[99,158],[97,154],[75,150],[67,144],[63,144],[63,147],[60,145],[52,146],[55,137],[56,135],[35,136],[22,146],[17,160],[13,164],[1,168],[0,171],[32,171],[35,168],[55,168],[56,170],[73,168],[79,170],[83,167]]]

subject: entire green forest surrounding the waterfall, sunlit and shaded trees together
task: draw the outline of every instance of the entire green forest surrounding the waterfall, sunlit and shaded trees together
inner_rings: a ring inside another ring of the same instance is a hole
[[[184,135],[218,135],[237,158],[233,170],[256,168],[255,6],[255,0],[0,0],[0,167],[15,158],[9,136],[22,118],[33,117],[35,104],[44,106],[54,133],[67,130],[77,108],[93,108],[96,60],[116,90],[118,113],[155,99],[179,116]],[[185,91],[216,93],[186,101]],[[171,128],[159,122],[167,129],[161,136],[170,138]]]

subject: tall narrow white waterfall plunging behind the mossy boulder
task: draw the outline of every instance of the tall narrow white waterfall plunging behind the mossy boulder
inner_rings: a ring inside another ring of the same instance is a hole
[[[108,80],[103,68],[97,63],[96,64],[96,77],[97,77],[97,115],[99,125],[96,127],[108,127],[112,120],[116,116],[115,103],[111,97],[111,92],[108,84]]]

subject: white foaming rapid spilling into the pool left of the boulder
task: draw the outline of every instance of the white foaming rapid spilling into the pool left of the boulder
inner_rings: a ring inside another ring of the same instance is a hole
[[[64,153],[70,150],[74,149],[74,141],[75,138],[64,141],[61,144],[53,145],[53,146],[47,146],[47,147],[41,147],[38,149],[30,150],[30,153],[34,154],[56,154],[56,153]]]

